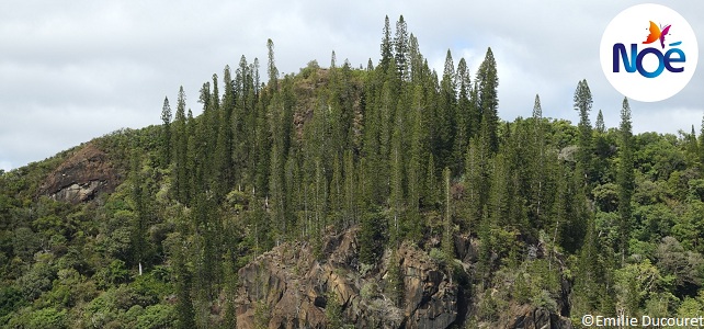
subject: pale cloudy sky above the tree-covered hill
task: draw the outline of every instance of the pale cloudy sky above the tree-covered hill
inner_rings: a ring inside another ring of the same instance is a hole
[[[338,3],[339,2],[339,3]],[[623,101],[604,77],[599,45],[609,22],[638,1],[9,1],[0,11],[0,169],[39,161],[116,129],[160,123],[163,98],[180,86],[194,114],[197,92],[225,65],[258,57],[266,76],[266,39],[282,73],[310,60],[353,67],[379,60],[384,16],[404,15],[430,66],[445,54],[476,69],[491,47],[499,73],[499,116],[576,123],[572,98],[587,79],[592,123],[603,111],[618,125]],[[661,4],[688,20],[704,44],[704,2]],[[701,65],[700,65],[701,66]],[[632,101],[635,133],[699,132],[704,68],[679,94]]]

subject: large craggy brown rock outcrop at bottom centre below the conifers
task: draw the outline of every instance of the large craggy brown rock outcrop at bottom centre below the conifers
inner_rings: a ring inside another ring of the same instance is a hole
[[[397,307],[385,293],[390,257],[360,273],[355,236],[348,230],[326,241],[325,261],[314,259],[310,245],[295,242],[240,269],[238,327],[330,328],[326,308],[336,302],[342,324],[355,328],[447,328],[456,320],[458,287],[425,252],[408,245],[397,250],[404,279]]]

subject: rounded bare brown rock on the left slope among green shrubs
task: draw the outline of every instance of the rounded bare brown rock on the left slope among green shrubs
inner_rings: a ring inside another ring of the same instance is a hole
[[[114,191],[120,179],[107,156],[88,144],[47,177],[39,194],[76,204]]]

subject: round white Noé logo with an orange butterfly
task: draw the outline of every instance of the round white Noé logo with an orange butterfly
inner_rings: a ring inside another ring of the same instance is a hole
[[[680,92],[699,59],[696,36],[674,10],[645,3],[618,13],[601,37],[601,67],[625,97],[657,102]]]

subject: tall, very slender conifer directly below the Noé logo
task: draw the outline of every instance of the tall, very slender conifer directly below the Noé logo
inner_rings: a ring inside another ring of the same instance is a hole
[[[631,236],[631,217],[633,208],[631,200],[635,190],[635,175],[634,175],[634,155],[633,155],[633,133],[631,128],[631,106],[628,99],[623,99],[623,106],[621,109],[621,148],[620,148],[620,162],[618,162],[618,215],[621,222],[618,225],[618,249],[622,256],[622,261],[626,257],[628,248],[628,238]]]

